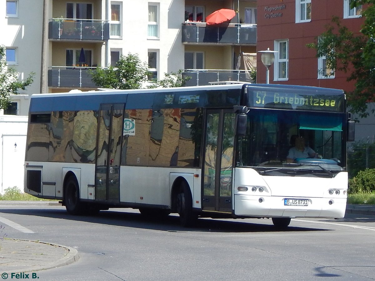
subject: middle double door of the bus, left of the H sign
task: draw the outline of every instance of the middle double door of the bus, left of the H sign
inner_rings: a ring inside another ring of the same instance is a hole
[[[101,105],[99,114],[95,200],[118,203],[124,104]]]

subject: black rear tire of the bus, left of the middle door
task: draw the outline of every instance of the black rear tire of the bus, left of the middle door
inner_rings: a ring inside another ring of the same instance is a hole
[[[66,211],[71,215],[82,214],[82,204],[80,202],[80,189],[77,179],[74,176],[68,178],[64,188],[64,203]]]

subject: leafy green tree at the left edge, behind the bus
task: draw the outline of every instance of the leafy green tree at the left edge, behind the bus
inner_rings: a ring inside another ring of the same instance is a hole
[[[0,46],[0,109],[7,109],[10,105],[10,95],[19,94],[19,89],[26,90],[33,82],[34,75],[35,73],[31,72],[25,80],[18,80],[16,70],[7,66],[5,47]]]

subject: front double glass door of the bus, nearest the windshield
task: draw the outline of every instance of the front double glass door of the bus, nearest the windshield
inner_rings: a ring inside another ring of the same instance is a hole
[[[206,115],[202,209],[232,212],[233,110],[212,109]]]

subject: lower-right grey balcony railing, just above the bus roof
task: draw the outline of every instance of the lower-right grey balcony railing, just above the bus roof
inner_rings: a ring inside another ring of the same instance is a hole
[[[247,70],[228,70],[228,69],[185,69],[182,77],[190,76],[191,79],[186,82],[186,86],[204,86],[210,85],[210,82],[219,81],[241,81],[253,83],[250,78],[250,72]]]

